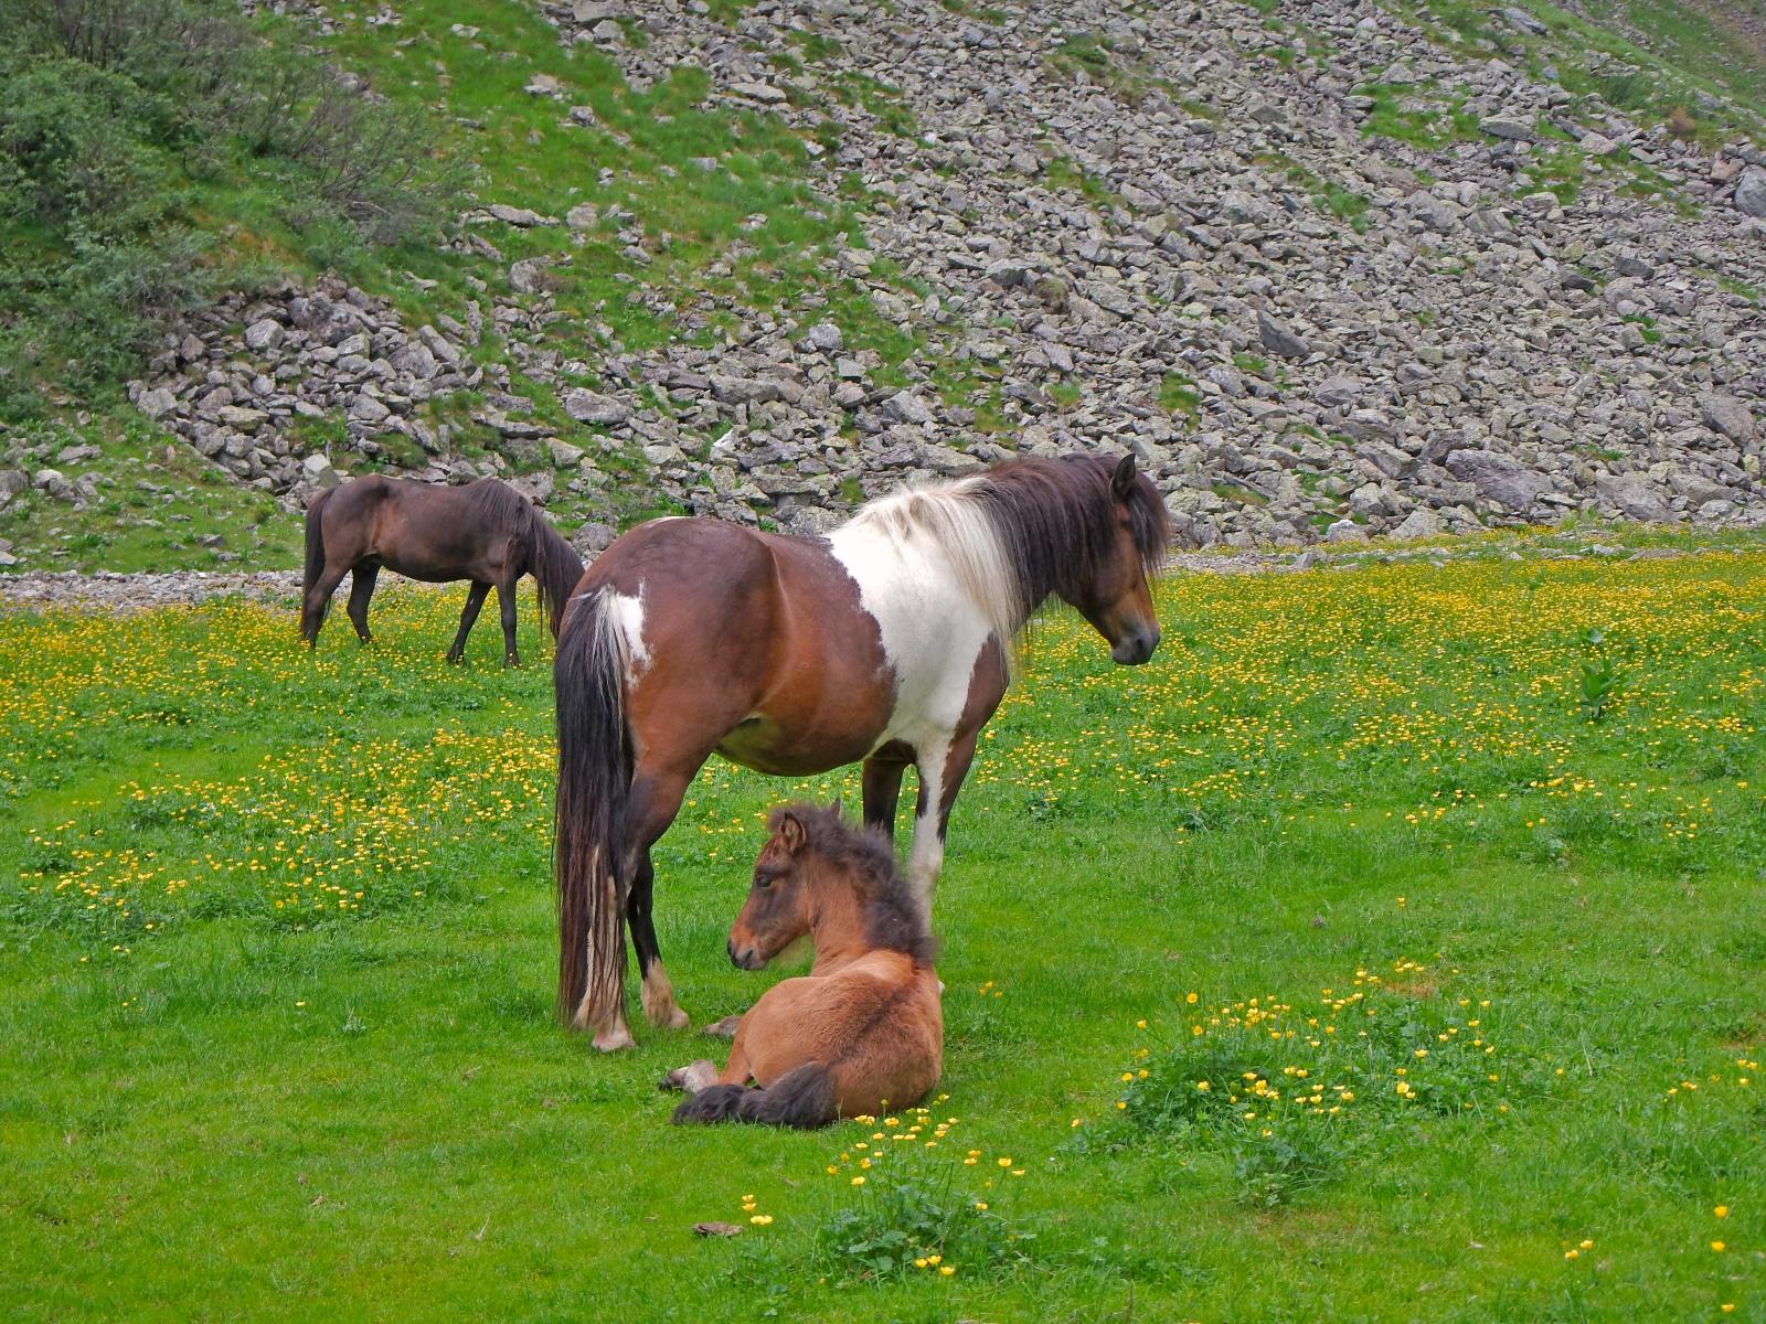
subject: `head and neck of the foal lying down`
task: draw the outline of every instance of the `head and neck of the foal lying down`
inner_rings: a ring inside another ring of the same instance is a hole
[[[754,883],[729,929],[729,960],[759,969],[798,937],[892,948],[931,960],[925,922],[881,835],[839,809],[774,810],[772,835],[754,861]]]

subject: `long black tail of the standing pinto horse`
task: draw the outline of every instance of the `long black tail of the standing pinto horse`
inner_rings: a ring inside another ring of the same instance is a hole
[[[625,800],[632,743],[625,729],[623,650],[604,590],[579,595],[558,634],[558,1019],[611,1026],[625,997]]]

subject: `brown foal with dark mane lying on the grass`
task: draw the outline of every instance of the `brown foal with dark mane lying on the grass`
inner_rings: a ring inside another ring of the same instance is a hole
[[[938,1084],[945,1013],[932,934],[895,851],[839,809],[779,809],[770,828],[729,959],[759,969],[809,934],[816,964],[749,1008],[722,1072],[701,1059],[664,1077],[692,1095],[675,1121],[809,1128],[913,1107]]]

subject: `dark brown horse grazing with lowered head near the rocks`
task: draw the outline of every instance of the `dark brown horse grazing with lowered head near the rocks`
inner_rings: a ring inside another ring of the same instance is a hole
[[[431,584],[472,581],[449,662],[464,655],[466,636],[494,584],[503,614],[503,666],[510,667],[521,666],[516,581],[533,575],[540,611],[556,636],[570,590],[583,577],[583,558],[509,484],[479,478],[464,487],[442,487],[373,473],[320,493],[307,507],[300,634],[309,648],[318,648],[330,595],[350,572],[350,621],[357,637],[369,641],[367,600],[383,565]]]

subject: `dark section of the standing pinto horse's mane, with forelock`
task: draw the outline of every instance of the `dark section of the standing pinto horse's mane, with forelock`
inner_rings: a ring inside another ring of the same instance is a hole
[[[978,475],[964,496],[982,507],[1001,553],[1017,572],[1023,616],[1051,593],[1090,583],[1116,549],[1116,498],[1109,455],[1015,459]],[[1148,579],[1171,544],[1171,517],[1153,480],[1136,473],[1128,531]]]

